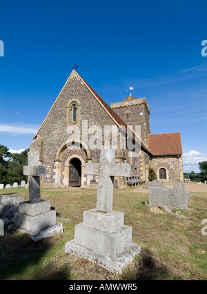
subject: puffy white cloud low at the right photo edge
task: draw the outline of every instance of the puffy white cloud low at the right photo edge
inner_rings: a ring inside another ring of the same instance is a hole
[[[201,161],[207,161],[207,155],[201,154],[198,151],[191,150],[183,154],[184,172],[195,171],[199,173],[198,163]]]

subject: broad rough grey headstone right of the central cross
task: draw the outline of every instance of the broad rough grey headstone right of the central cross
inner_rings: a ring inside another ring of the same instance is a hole
[[[188,209],[190,192],[186,191],[185,184],[175,184],[175,188],[148,187],[148,204],[150,207],[163,207],[169,209]]]

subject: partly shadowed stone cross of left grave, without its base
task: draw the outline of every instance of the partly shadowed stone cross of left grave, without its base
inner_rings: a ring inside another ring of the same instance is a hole
[[[46,167],[39,165],[39,152],[28,152],[28,167],[23,167],[23,174],[28,176],[30,202],[41,201],[39,177],[46,174]]]

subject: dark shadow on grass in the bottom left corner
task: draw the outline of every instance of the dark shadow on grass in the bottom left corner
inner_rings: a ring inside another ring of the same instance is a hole
[[[0,280],[70,280],[68,264],[51,261],[53,246],[50,238],[34,242],[26,234],[6,229],[0,237]]]

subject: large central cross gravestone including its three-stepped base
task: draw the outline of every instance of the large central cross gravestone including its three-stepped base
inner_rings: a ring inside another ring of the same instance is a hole
[[[140,246],[132,243],[132,228],[124,225],[124,212],[112,210],[114,178],[130,176],[130,165],[115,163],[115,150],[101,150],[100,163],[86,164],[86,174],[99,175],[97,208],[84,211],[65,252],[121,273],[140,253]]]

